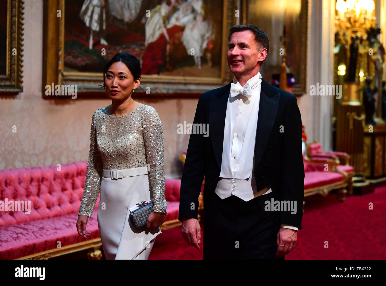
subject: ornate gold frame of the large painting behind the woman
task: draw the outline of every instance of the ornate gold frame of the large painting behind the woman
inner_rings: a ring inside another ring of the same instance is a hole
[[[246,0],[239,1],[246,2]],[[144,96],[187,96],[201,94],[228,84],[233,77],[226,58],[228,32],[237,21],[234,12],[237,2],[237,0],[223,0],[220,77],[142,75],[141,86],[149,87],[151,94],[144,94],[140,89],[136,91]],[[245,5],[242,7],[244,8]],[[64,71],[64,19],[66,15],[64,8],[64,0],[44,0],[43,98],[65,97],[46,95],[46,86],[52,86],[52,83],[58,86],[76,85],[78,97],[103,96],[103,89],[100,88],[100,85],[103,84],[102,72]],[[59,11],[61,17],[58,17]],[[246,16],[244,15],[247,13],[244,11],[240,14],[242,18],[240,20],[245,22]]]

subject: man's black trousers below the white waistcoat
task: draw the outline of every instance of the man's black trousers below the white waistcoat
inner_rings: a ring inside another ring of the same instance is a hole
[[[245,202],[204,194],[204,259],[284,259],[276,257],[280,213],[265,211],[273,192]]]

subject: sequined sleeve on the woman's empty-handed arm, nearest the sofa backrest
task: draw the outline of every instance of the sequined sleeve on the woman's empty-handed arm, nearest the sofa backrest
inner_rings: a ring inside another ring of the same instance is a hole
[[[83,189],[83,197],[80,202],[79,214],[91,217],[95,203],[98,199],[100,183],[102,179],[103,163],[97,149],[97,137],[95,132],[95,112],[91,119],[90,131],[90,153],[88,154],[87,173],[85,180],[85,188]]]

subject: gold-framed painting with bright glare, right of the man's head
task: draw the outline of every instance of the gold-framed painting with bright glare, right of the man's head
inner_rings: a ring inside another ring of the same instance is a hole
[[[269,52],[261,67],[262,77],[271,82],[280,72],[283,59],[281,36],[286,27],[287,72],[295,77],[293,93],[306,93],[308,0],[249,0],[249,23],[262,29],[269,38]]]

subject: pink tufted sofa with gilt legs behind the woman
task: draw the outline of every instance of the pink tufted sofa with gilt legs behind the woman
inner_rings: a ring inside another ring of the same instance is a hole
[[[99,197],[87,223],[91,235],[85,239],[75,227],[86,172],[87,162],[61,165],[60,170],[56,165],[0,170],[0,259],[48,259],[90,248],[89,259],[101,258]],[[165,185],[168,209],[161,229],[180,224],[180,180],[166,179]],[[10,201],[27,202],[26,208],[12,210]]]

